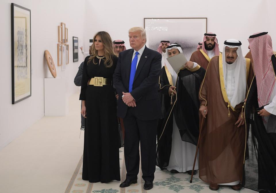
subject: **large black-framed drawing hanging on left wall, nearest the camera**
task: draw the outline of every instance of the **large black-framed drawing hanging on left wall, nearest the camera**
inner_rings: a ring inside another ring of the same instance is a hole
[[[31,96],[31,10],[11,3],[11,101]]]

